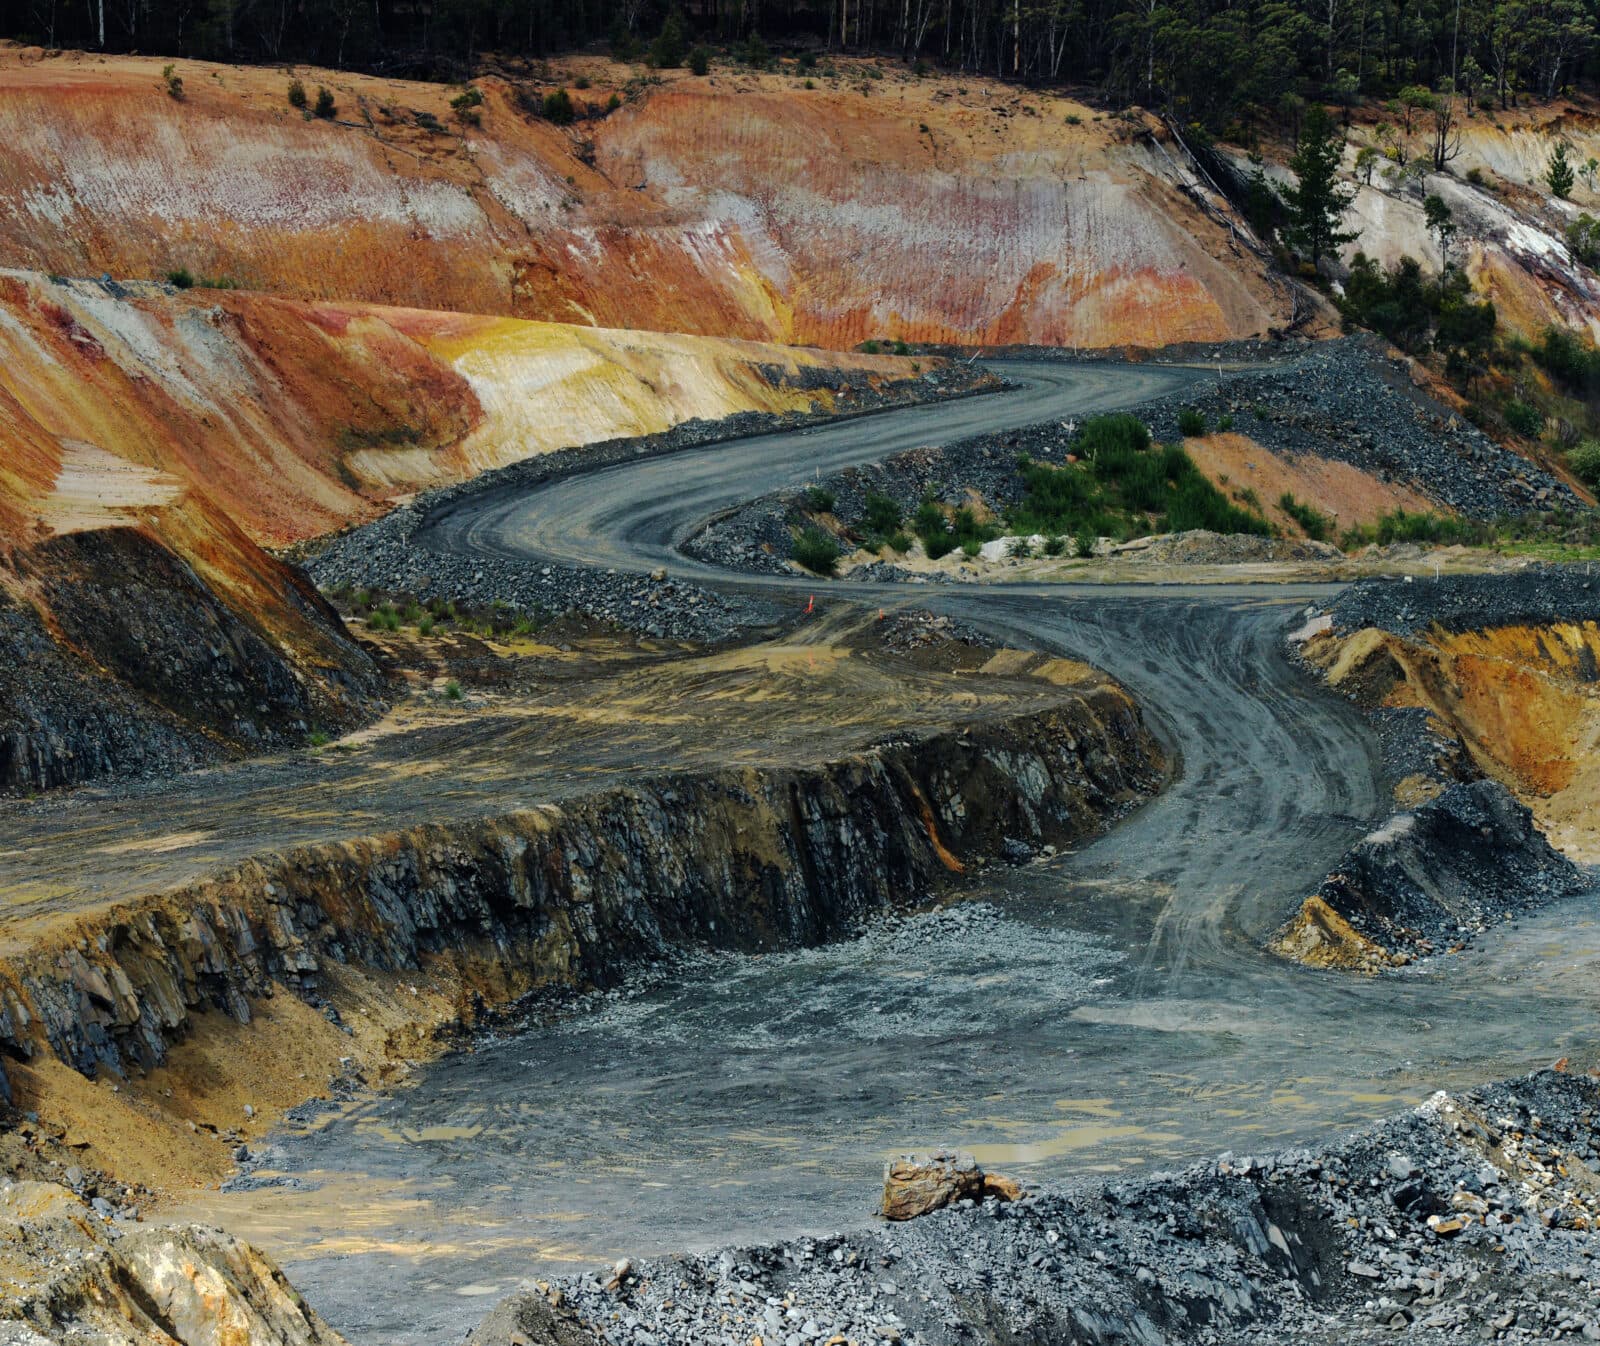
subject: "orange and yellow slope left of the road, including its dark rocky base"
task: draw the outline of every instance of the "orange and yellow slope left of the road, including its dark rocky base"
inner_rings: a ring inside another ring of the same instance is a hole
[[[917,386],[893,357],[3,272],[0,789],[370,719],[376,664],[262,543],[570,443]]]

